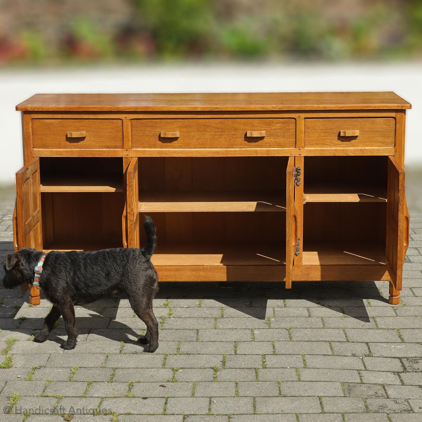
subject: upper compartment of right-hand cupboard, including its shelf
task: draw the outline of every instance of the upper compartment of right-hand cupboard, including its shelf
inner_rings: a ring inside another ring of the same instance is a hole
[[[386,202],[388,157],[305,157],[304,200]]]

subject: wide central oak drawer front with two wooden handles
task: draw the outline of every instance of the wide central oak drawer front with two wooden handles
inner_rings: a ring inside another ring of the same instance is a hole
[[[133,148],[294,148],[296,138],[295,119],[135,119],[131,125]]]

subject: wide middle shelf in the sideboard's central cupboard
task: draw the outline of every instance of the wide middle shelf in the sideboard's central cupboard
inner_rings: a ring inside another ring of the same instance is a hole
[[[286,212],[286,191],[140,192],[139,212]]]

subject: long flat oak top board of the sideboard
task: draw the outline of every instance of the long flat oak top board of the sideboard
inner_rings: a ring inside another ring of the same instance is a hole
[[[277,111],[411,108],[394,92],[36,94],[18,111]]]

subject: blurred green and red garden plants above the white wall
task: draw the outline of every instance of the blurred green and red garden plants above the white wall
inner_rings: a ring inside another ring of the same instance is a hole
[[[0,65],[422,56],[422,0],[0,0]]]

